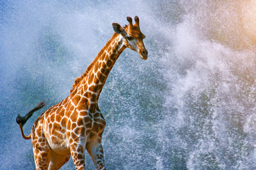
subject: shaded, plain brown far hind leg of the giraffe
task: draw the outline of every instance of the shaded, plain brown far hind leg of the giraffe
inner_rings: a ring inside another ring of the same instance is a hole
[[[51,150],[51,160],[48,169],[60,169],[65,163],[68,162],[70,155],[60,155]]]

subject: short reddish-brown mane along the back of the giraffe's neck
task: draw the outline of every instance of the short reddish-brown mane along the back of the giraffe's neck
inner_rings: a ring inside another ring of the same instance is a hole
[[[82,79],[85,78],[86,75],[88,75],[89,71],[92,70],[93,66],[95,65],[95,63],[98,61],[98,58],[101,57],[102,53],[104,53],[104,51],[106,50],[106,48],[108,48],[108,46],[112,43],[112,41],[118,36],[118,33],[114,33],[111,37],[111,39],[106,42],[104,48],[102,48],[100,50],[100,52],[97,54],[97,56],[94,58],[93,62],[90,63],[90,65],[86,68],[84,74],[82,74],[80,77],[75,79],[75,83],[73,84],[73,88],[70,90],[70,92],[72,92],[73,90],[75,90],[75,88],[77,87],[77,85],[82,81]]]

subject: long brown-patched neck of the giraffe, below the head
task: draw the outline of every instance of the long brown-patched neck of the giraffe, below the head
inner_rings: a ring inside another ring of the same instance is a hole
[[[88,109],[91,113],[96,110],[98,97],[100,96],[110,70],[125,48],[123,36],[114,33],[112,38],[89,66],[88,74],[81,80],[77,93],[80,97],[85,99],[85,102],[87,101]]]

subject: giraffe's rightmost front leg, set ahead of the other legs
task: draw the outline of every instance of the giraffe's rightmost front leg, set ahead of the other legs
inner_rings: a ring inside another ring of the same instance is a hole
[[[95,141],[90,143],[90,145],[87,147],[87,151],[90,154],[90,157],[92,157],[96,169],[106,169],[104,163],[103,148],[100,139],[96,139]]]

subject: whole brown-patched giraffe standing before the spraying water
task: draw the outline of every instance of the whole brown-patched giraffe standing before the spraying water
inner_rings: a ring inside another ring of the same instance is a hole
[[[96,169],[105,169],[101,145],[106,121],[98,107],[98,98],[115,61],[126,48],[147,59],[145,36],[139,27],[139,18],[127,16],[129,25],[113,23],[114,34],[104,48],[79,78],[75,80],[70,95],[42,113],[32,126],[30,135],[23,133],[23,125],[45,103],[21,117],[18,114],[22,137],[31,139],[36,169],[59,169],[72,156],[76,169],[85,169],[85,150]]]

